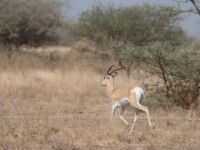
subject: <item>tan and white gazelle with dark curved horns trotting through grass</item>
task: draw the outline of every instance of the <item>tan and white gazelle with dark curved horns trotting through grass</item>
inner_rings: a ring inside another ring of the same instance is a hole
[[[140,104],[141,100],[144,98],[143,89],[140,87],[114,88],[113,78],[117,75],[118,71],[122,69],[121,62],[119,62],[119,64],[120,64],[120,68],[115,69],[115,70],[112,70],[114,65],[110,66],[110,68],[107,70],[106,76],[104,76],[103,81],[101,83],[102,86],[106,86],[107,95],[112,100],[112,117],[108,125],[106,134],[108,133],[110,129],[110,125],[115,115],[116,108],[121,108],[120,119],[126,125],[129,125],[128,122],[123,117],[126,107],[129,107],[129,106],[133,107],[133,110],[134,110],[134,121],[131,127],[131,131],[129,132],[129,135],[133,132],[133,128],[137,120],[138,110],[144,111],[147,114],[149,126],[151,128],[154,128],[150,120],[148,108]]]

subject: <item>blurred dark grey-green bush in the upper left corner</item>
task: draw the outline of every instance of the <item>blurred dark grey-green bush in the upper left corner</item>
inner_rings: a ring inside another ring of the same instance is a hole
[[[1,0],[0,42],[16,46],[56,42],[60,22],[60,6],[56,1]]]

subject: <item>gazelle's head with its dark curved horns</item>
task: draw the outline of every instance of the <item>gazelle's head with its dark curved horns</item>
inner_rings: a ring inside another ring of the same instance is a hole
[[[112,70],[115,65],[112,65],[108,68],[106,75],[103,77],[101,82],[102,86],[107,86],[113,83],[113,78],[118,74],[118,71],[122,69],[122,64],[119,61],[120,68]]]

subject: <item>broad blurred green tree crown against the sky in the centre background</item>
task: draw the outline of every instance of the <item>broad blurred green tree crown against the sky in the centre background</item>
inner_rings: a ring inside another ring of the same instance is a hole
[[[83,12],[74,29],[78,36],[97,42],[120,41],[144,45],[154,41],[177,41],[184,37],[176,24],[177,12],[166,6],[114,8],[97,5]]]

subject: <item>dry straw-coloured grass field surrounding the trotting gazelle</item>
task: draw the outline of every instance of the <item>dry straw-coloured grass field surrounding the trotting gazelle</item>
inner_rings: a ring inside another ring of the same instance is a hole
[[[141,114],[131,136],[117,111],[105,136],[110,102],[100,82],[111,62],[84,54],[49,57],[1,53],[0,149],[199,149],[199,111],[187,118],[180,108],[150,110],[155,130]],[[116,78],[117,86],[135,82],[124,77],[122,72]],[[125,118],[133,121],[130,110]]]

